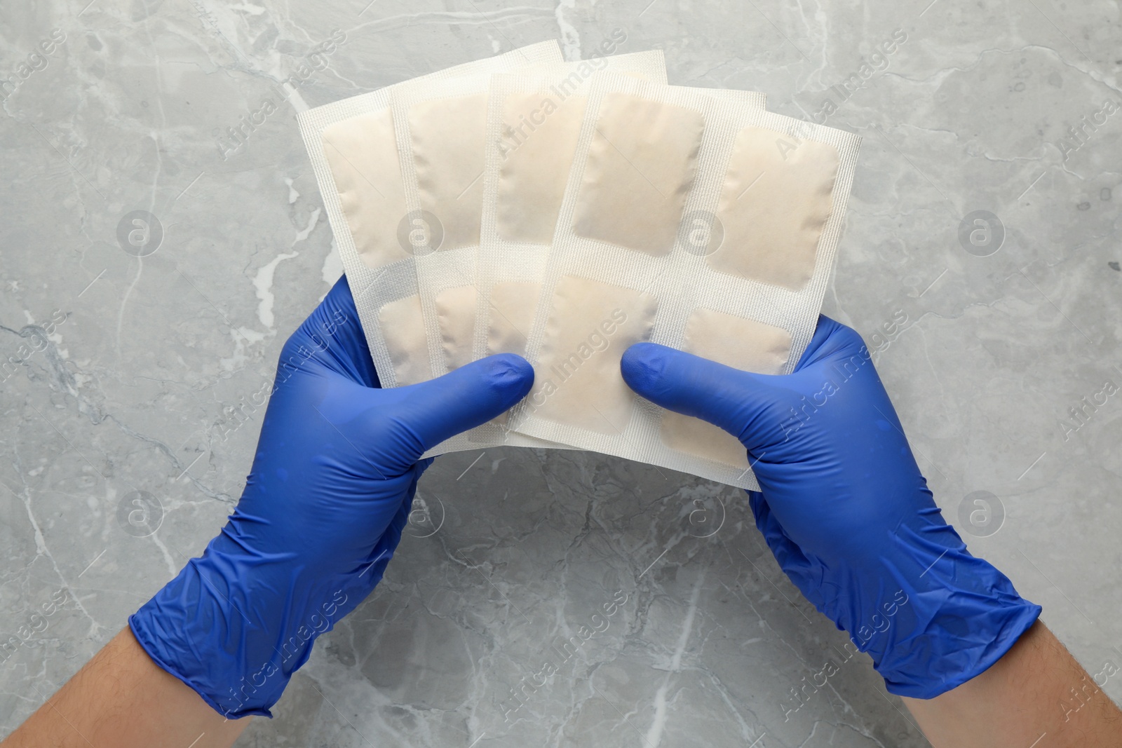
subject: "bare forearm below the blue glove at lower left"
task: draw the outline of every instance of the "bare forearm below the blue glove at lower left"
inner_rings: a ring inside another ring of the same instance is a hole
[[[223,719],[126,628],[0,748],[228,748],[248,723]]]

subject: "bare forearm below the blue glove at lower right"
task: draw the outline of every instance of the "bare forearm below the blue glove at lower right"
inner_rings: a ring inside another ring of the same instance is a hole
[[[1104,683],[1037,621],[977,677],[904,703],[935,748],[1115,748],[1122,712]]]

